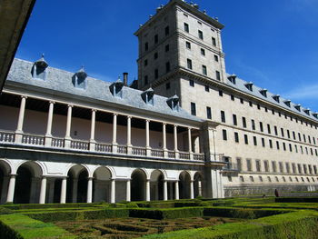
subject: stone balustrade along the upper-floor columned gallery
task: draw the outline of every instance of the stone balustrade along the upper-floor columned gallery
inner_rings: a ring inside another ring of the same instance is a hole
[[[65,139],[58,137],[45,137],[34,134],[15,134],[14,132],[0,132],[0,143],[2,144],[24,144],[32,146],[44,146],[58,149],[73,149],[79,151],[90,151],[109,154],[129,154],[134,156],[149,156],[161,159],[181,159],[204,161],[204,154],[189,152],[175,152],[174,150],[146,149],[140,146],[114,145],[104,143],[90,143],[88,140]]]

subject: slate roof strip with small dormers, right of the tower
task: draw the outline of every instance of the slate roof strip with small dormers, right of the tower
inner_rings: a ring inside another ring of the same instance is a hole
[[[231,76],[231,75],[227,75],[227,76],[229,77],[229,76]],[[243,91],[244,93],[247,93],[247,94],[249,94],[249,95],[253,95],[253,96],[256,96],[256,97],[258,97],[258,98],[261,98],[261,99],[263,99],[263,100],[265,100],[265,101],[267,101],[267,102],[272,103],[273,105],[279,105],[279,106],[283,107],[283,108],[286,109],[286,110],[293,111],[293,113],[295,113],[295,114],[303,115],[303,116],[305,116],[305,117],[307,117],[307,118],[310,118],[310,119],[312,119],[312,120],[318,122],[318,118],[316,118],[315,116],[313,116],[313,115],[315,115],[314,112],[309,111],[309,112],[308,112],[309,115],[307,115],[307,114],[305,113],[305,111],[309,110],[308,108],[304,108],[304,107],[301,106],[301,107],[299,108],[300,110],[297,110],[296,107],[297,107],[297,106],[300,106],[300,105],[294,104],[294,103],[291,102],[289,99],[285,99],[285,98],[283,98],[283,97],[280,96],[280,95],[273,94],[273,93],[267,91],[266,89],[263,89],[263,88],[261,88],[261,87],[259,87],[259,86],[256,86],[256,85],[253,85],[253,83],[251,83],[251,82],[243,81],[242,79],[240,79],[240,78],[238,78],[238,77],[236,77],[236,80],[235,80],[236,84],[234,84],[232,81],[229,80],[228,77],[227,77],[227,79],[226,79],[226,81],[225,81],[225,84],[226,84],[226,85],[230,85],[230,86],[234,87],[234,88],[237,89],[237,90]],[[253,91],[250,91],[250,90],[246,87],[246,85],[249,85],[249,84],[252,84],[252,85],[253,85],[253,86],[252,86]],[[261,91],[262,91],[262,90],[266,90],[266,91],[267,91],[267,92],[266,92],[267,97],[265,97],[264,95],[261,94]],[[274,98],[277,97],[277,96],[279,97],[279,102],[277,102],[277,101],[274,99]],[[285,102],[287,102],[287,104],[286,104]],[[289,106],[289,105],[290,105],[290,106]]]

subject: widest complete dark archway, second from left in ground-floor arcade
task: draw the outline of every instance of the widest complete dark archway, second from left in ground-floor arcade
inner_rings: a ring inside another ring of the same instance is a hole
[[[15,178],[15,204],[38,203],[43,165],[36,161],[22,162],[17,166]]]

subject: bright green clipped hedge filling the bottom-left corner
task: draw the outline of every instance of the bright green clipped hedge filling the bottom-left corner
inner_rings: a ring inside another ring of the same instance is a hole
[[[3,239],[75,239],[55,224],[45,224],[23,214],[0,215],[0,238]]]

